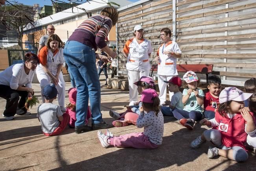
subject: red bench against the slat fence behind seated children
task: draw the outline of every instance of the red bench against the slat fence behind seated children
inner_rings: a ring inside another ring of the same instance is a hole
[[[209,74],[212,73],[213,64],[177,64],[178,72],[188,72],[193,71],[197,74],[206,74],[206,83],[208,81]],[[152,77],[153,72],[157,71],[158,64],[153,64],[151,66],[151,74]]]

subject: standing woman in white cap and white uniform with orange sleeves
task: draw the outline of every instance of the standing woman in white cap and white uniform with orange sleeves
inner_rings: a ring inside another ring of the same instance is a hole
[[[143,28],[140,25],[134,27],[134,38],[125,43],[123,52],[127,57],[127,75],[129,81],[130,104],[133,106],[138,102],[138,86],[133,83],[139,81],[142,76],[149,76],[151,65],[149,57],[152,52],[151,42],[143,38]]]

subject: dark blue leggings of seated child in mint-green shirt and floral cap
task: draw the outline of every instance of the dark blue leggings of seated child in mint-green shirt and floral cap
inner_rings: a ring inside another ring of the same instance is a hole
[[[173,116],[177,120],[181,120],[182,118],[189,118],[194,121],[197,121],[197,120],[201,120],[202,118],[201,112],[198,112],[195,110],[191,110],[190,112],[188,112],[186,110],[173,109]]]

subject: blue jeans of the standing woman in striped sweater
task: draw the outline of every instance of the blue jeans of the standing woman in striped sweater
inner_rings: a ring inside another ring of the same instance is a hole
[[[76,81],[76,126],[85,125],[88,99],[92,109],[92,123],[101,123],[100,83],[96,69],[96,56],[93,48],[77,41],[67,41],[64,58]]]

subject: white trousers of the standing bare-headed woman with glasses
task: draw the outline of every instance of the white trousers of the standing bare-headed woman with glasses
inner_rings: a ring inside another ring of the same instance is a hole
[[[175,75],[158,75],[158,87],[159,87],[159,99],[160,99],[160,105],[164,104],[166,101],[166,95],[167,95],[167,83],[164,82],[164,80],[169,81],[172,77]],[[173,92],[169,92],[169,99],[171,100],[171,96],[173,96]]]

